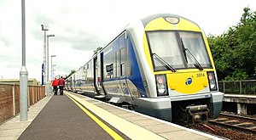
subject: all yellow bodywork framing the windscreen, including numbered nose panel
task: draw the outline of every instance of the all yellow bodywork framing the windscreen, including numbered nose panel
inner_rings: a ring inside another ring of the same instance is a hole
[[[198,32],[201,32],[201,29],[198,25],[195,25],[195,23],[182,18],[179,18],[179,22],[177,24],[170,24],[163,18],[157,18],[155,20],[151,20],[148,23],[148,25],[145,26],[145,31],[198,31]],[[171,70],[154,72],[153,63],[152,63],[149,48],[148,48],[147,36],[146,36],[146,33],[144,32],[143,48],[144,48],[146,58],[148,60],[148,64],[152,72],[154,73],[154,75],[166,74],[167,86],[169,89],[171,89],[171,92],[169,92],[170,96],[189,95],[189,94],[196,94],[200,92],[209,92],[207,71],[214,70],[214,64],[212,60],[212,55],[210,53],[210,48],[207,43],[207,37],[203,33],[202,35],[206,43],[207,52],[209,54],[209,58],[212,63],[213,69],[204,69],[203,71],[198,69],[187,69],[187,70],[177,70],[176,72],[172,72]]]

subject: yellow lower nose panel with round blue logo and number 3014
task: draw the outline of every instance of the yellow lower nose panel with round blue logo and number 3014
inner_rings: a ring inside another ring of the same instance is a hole
[[[169,89],[184,94],[197,93],[208,86],[207,72],[172,73],[166,76]]]

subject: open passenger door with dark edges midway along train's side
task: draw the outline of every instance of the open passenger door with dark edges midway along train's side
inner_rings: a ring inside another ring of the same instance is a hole
[[[102,88],[102,57],[101,53],[98,53],[96,58],[93,59],[94,65],[94,87],[99,95],[105,95]]]

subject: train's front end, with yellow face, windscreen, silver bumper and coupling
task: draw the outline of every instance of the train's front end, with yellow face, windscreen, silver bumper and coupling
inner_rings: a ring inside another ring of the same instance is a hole
[[[138,98],[137,104],[144,107],[140,111],[185,123],[217,118],[224,93],[218,92],[212,54],[201,28],[173,14],[148,17],[143,25],[148,98]]]

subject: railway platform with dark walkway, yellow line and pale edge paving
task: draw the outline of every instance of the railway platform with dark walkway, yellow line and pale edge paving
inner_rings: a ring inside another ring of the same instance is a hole
[[[112,104],[65,92],[49,96],[0,126],[6,139],[221,139]]]

